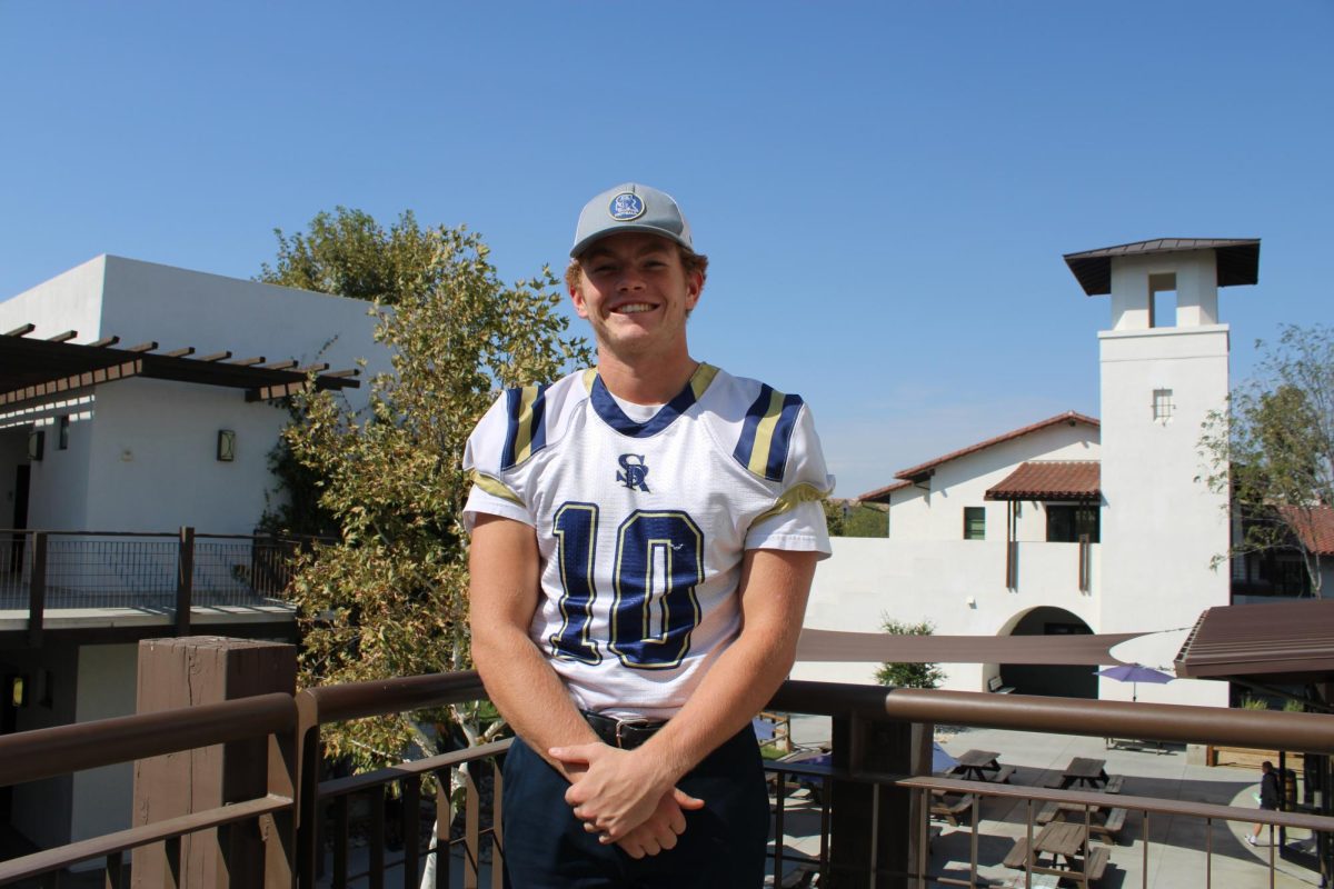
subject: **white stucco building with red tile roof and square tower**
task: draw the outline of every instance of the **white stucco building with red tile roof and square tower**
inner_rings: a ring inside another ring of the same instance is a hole
[[[1258,240],[1158,240],[1074,253],[1097,335],[1101,419],[1059,415],[936,457],[863,494],[888,538],[836,538],[806,626],[867,632],[882,617],[936,634],[1163,632],[1131,657],[1170,669],[1179,634],[1230,602],[1227,501],[1197,478],[1198,440],[1229,392],[1218,289],[1254,284]],[[1090,345],[1093,345],[1090,336]],[[1093,360],[1090,349],[1090,361]],[[1118,650],[1118,657],[1121,652]],[[798,678],[870,681],[875,664],[798,664]],[[1227,704],[1222,682],[1131,688],[1089,666],[944,664],[944,688]]]

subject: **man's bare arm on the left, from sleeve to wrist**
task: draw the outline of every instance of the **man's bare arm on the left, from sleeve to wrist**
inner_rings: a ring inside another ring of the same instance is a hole
[[[472,661],[487,694],[514,730],[567,780],[552,746],[596,742],[564,684],[528,637],[538,608],[542,561],[531,526],[500,516],[478,516],[468,554]]]

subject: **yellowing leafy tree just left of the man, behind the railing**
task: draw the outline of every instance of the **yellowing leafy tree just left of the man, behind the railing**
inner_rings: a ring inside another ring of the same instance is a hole
[[[507,287],[479,236],[422,229],[411,213],[399,220],[382,239],[359,211],[321,213],[317,235],[280,236],[277,271],[265,268],[268,280],[303,287],[356,281],[376,296],[375,337],[392,355],[392,371],[370,380],[366,409],[307,392],[284,433],[339,530],[336,542],[297,560],[304,685],[471,666],[460,518],[471,485],[462,468],[467,436],[502,387],[552,380],[590,359],[584,340],[567,332],[550,269]],[[476,742],[491,717],[490,708],[452,708],[439,721]],[[332,756],[374,766],[412,742],[435,749],[430,734],[386,717],[334,726],[327,737]]]

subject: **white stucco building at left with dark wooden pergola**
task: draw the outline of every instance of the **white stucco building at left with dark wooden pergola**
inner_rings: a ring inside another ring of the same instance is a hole
[[[367,311],[117,256],[0,303],[0,528],[15,529],[0,534],[13,541],[0,569],[0,732],[132,713],[137,640],[175,629],[171,538],[52,534],[33,637],[23,532],[253,533],[275,488],[268,454],[289,420],[273,396],[304,383],[301,368],[328,365],[320,385],[364,403],[339,372],[362,359],[368,373],[388,369]],[[292,638],[291,609],[247,589],[249,545],[208,546],[231,554],[215,565],[199,556],[196,582],[213,570],[223,578],[209,582],[235,580],[249,597],[196,596],[192,632]],[[43,846],[77,841],[129,826],[129,788],[128,765],[21,785],[0,793],[0,816]]]

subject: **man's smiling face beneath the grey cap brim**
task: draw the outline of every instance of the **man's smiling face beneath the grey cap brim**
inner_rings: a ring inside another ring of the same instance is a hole
[[[686,316],[704,277],[686,271],[676,244],[643,232],[611,235],[579,256],[579,268],[570,297],[592,325],[602,363],[651,359],[666,371],[690,361]]]

